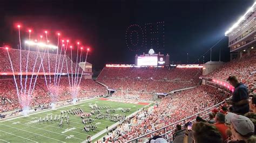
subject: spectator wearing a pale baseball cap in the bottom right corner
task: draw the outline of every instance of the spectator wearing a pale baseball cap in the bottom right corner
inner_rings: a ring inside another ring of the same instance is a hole
[[[249,118],[230,112],[225,117],[225,122],[230,125],[230,131],[232,133],[232,140],[228,141],[229,143],[256,142],[256,137],[253,135],[254,124]]]

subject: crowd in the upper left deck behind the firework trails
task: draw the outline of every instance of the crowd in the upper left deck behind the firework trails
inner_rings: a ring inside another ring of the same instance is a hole
[[[24,50],[18,50],[18,49],[8,49],[10,58],[8,56],[8,53],[5,48],[0,48],[0,72],[2,73],[12,73],[11,69],[11,63],[10,59],[12,62],[12,66],[14,68],[14,72],[26,72],[26,65],[28,61],[28,72],[32,72],[33,68],[34,73],[37,72],[45,72],[49,73],[49,63],[50,63],[50,73],[55,73],[55,67],[56,67],[56,73],[71,73],[71,65],[73,66],[72,68],[75,70],[76,69],[76,64],[71,61],[69,56],[64,56],[64,52],[62,54],[51,54],[48,52],[34,52],[34,51],[24,51]],[[21,53],[20,53],[21,52]],[[21,55],[21,56],[20,56]],[[56,55],[57,55],[57,62],[56,62]],[[21,59],[20,59],[21,58]],[[42,59],[42,60],[41,60]],[[41,65],[42,62],[42,66]],[[68,69],[67,70],[67,66]],[[20,68],[21,67],[21,68]],[[40,70],[38,71],[40,67]],[[58,68],[59,67],[59,68]],[[77,66],[77,69],[79,66]],[[57,72],[58,69],[58,72]],[[79,73],[82,72],[82,69],[79,69]]]

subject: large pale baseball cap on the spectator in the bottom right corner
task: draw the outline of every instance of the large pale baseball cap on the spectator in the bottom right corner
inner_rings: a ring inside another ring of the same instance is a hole
[[[245,116],[233,116],[231,123],[234,126],[235,131],[241,135],[246,135],[248,133],[254,133],[254,124],[252,121]]]

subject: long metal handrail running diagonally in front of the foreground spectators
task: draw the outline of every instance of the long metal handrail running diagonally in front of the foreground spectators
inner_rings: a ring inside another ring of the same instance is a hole
[[[184,118],[184,119],[182,119],[182,120],[176,121],[176,122],[174,122],[174,123],[172,123],[172,124],[169,124],[169,125],[167,125],[167,126],[161,127],[161,128],[159,128],[159,129],[157,129],[157,130],[154,130],[154,131],[152,131],[152,132],[146,133],[146,134],[144,134],[144,135],[141,135],[141,136],[139,136],[139,137],[137,137],[137,138],[131,139],[131,140],[126,141],[126,142],[136,141],[136,140],[138,140],[138,139],[140,139],[140,138],[143,138],[143,137],[145,137],[145,136],[147,136],[147,135],[149,135],[149,134],[152,134],[152,133],[154,133],[154,132],[158,132],[158,131],[160,131],[160,130],[164,130],[166,127],[170,127],[170,126],[172,126],[172,125],[174,125],[174,124],[180,123],[181,121],[184,121],[184,120],[186,120],[186,119],[189,119],[189,118],[191,118],[191,117],[193,117],[193,116],[197,116],[197,115],[199,115],[200,113],[203,113],[203,112],[205,112],[205,111],[207,111],[207,110],[210,110],[210,109],[212,109],[212,108],[215,108],[216,106],[218,106],[218,105],[220,105],[220,104],[223,104],[224,102],[225,102],[225,101],[222,101],[222,102],[220,102],[220,103],[218,103],[218,104],[216,104],[216,105],[214,105],[214,106],[212,106],[212,107],[210,107],[210,108],[208,108],[208,109],[206,109],[206,110],[204,110],[204,111],[198,112],[198,113],[196,113],[196,114],[194,114],[194,115],[188,116],[188,117],[186,117],[186,118]]]

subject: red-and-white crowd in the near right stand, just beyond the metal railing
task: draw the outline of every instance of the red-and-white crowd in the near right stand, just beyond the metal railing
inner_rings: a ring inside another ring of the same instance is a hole
[[[145,118],[140,119],[138,116],[131,118],[128,122],[136,125],[132,126],[130,130],[124,130],[119,140],[127,141],[189,117],[218,104],[227,96],[224,92],[207,85],[200,85],[197,88],[166,96],[153,109],[144,111]],[[170,127],[168,131],[175,128],[175,126]],[[148,137],[152,138],[152,135]]]

